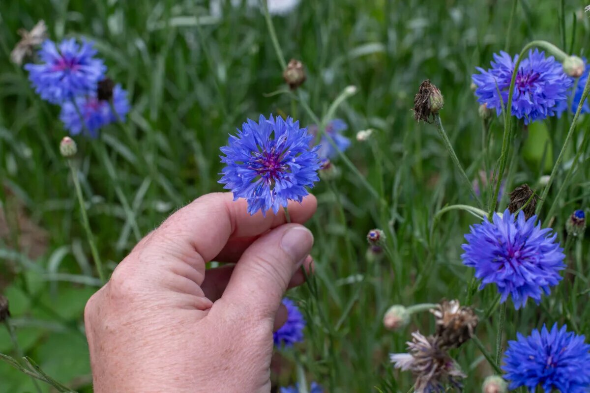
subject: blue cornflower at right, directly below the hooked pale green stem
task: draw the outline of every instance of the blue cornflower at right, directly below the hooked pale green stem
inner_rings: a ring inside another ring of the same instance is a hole
[[[563,249],[555,242],[551,229],[535,226],[536,216],[525,220],[525,213],[518,217],[504,211],[500,217],[494,213],[492,222],[487,218],[471,226],[465,235],[467,244],[461,258],[463,264],[476,269],[481,288],[495,283],[501,294],[501,302],[512,296],[514,308],[526,304],[528,298],[540,302],[542,292],[549,294],[549,287],[562,277],[565,269]]]

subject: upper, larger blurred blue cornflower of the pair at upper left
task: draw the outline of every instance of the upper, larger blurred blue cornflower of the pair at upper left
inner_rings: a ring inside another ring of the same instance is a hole
[[[41,98],[61,104],[96,89],[107,69],[96,53],[85,40],[79,45],[74,38],[64,39],[56,46],[48,39],[38,52],[42,64],[25,64],[25,70]]]

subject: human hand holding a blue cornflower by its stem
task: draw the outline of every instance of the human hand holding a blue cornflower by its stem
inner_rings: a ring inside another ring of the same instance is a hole
[[[273,329],[312,264],[300,223],[316,204],[289,204],[285,224],[207,194],[149,233],[86,305],[94,391],[269,392]],[[235,265],[205,270],[210,260]]]

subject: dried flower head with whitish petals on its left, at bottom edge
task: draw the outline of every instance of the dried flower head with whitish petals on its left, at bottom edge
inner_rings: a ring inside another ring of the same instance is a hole
[[[391,354],[389,359],[395,368],[414,374],[415,393],[442,393],[446,391],[445,384],[461,390],[461,379],[466,375],[440,346],[437,337],[425,337],[419,332],[414,332],[412,341],[407,344],[409,353]]]

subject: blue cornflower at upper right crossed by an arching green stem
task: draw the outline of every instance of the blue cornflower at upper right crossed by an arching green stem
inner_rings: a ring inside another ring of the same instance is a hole
[[[506,52],[494,54],[491,68],[477,67],[480,74],[473,74],[476,95],[480,104],[495,108],[499,116],[508,103],[508,89],[512,79],[514,64],[518,55],[510,58]],[[545,57],[545,52],[529,51],[529,57],[520,62],[514,84],[512,114],[525,120],[525,124],[557,115],[568,108],[568,89],[573,81],[563,72],[561,63],[553,56]],[[501,93],[501,99],[498,95]]]

